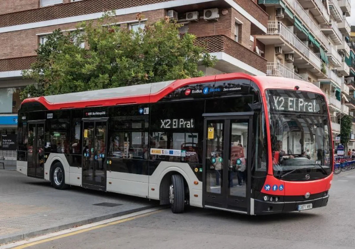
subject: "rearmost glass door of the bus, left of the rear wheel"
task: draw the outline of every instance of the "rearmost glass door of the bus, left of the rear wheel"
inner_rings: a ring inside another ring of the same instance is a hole
[[[44,178],[44,123],[28,124],[27,175]]]

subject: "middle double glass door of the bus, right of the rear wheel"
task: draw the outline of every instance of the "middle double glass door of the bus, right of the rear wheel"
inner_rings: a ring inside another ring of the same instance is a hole
[[[82,186],[106,190],[107,121],[83,122]]]

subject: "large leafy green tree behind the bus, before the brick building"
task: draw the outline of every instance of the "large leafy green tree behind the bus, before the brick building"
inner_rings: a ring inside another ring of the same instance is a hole
[[[49,35],[31,69],[23,71],[35,84],[23,90],[22,99],[198,77],[203,76],[198,63],[212,67],[217,61],[195,45],[194,35],[180,35],[181,25],[168,18],[133,31],[112,25],[114,15]]]

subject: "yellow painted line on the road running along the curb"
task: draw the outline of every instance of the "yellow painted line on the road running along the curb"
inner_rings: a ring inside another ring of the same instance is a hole
[[[98,225],[98,226],[94,226],[94,227],[89,227],[89,228],[84,228],[82,230],[78,230],[78,231],[74,231],[74,232],[70,232],[70,233],[61,234],[61,235],[54,236],[54,237],[51,237],[51,238],[48,238],[48,239],[42,239],[42,240],[38,240],[38,241],[35,241],[35,242],[19,245],[18,247],[13,247],[11,249],[22,249],[22,248],[26,248],[26,247],[32,247],[33,245],[38,245],[38,244],[42,244],[42,243],[45,243],[45,242],[49,242],[51,240],[56,240],[56,239],[69,237],[71,235],[84,233],[84,232],[91,231],[91,230],[98,229],[98,228],[102,228],[102,227],[108,227],[108,226],[116,225],[116,224],[123,223],[123,222],[126,222],[126,221],[131,221],[132,219],[137,219],[137,218],[148,216],[148,215],[151,215],[151,214],[154,214],[154,213],[158,213],[158,212],[161,212],[161,211],[162,210],[157,210],[157,211],[153,211],[153,212],[149,212],[149,213],[139,214],[137,216],[133,216],[133,217],[125,218],[125,219],[120,219],[119,221],[113,221],[113,222],[110,222],[110,223],[106,223],[106,224],[102,224],[102,225]]]

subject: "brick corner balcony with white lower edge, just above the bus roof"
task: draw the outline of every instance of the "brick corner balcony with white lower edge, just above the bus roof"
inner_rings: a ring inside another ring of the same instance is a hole
[[[243,72],[251,75],[265,75],[267,60],[249,48],[224,35],[198,37],[196,44],[217,56],[213,68],[225,73]]]

